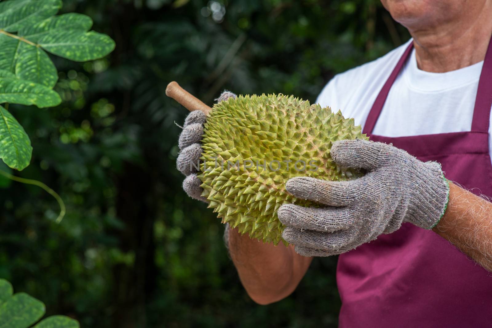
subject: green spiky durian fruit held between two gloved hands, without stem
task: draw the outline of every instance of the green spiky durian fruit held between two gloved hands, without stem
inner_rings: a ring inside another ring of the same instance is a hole
[[[355,138],[367,139],[353,119],[329,107],[281,94],[229,98],[213,107],[205,123],[202,196],[223,223],[277,245],[284,229],[277,218],[280,205],[316,206],[287,193],[285,182],[296,176],[361,176],[330,156],[333,141]]]

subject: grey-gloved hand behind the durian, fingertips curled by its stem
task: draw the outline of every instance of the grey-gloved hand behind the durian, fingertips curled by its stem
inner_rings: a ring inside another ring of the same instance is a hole
[[[215,100],[221,102],[231,97],[236,98],[236,95],[232,92],[224,91]],[[199,167],[199,160],[203,152],[200,140],[203,137],[203,124],[206,120],[206,115],[200,110],[192,111],[186,116],[178,142],[181,152],[176,161],[178,170],[186,176],[183,181],[184,191],[190,197],[204,202],[208,202],[208,200],[201,196],[203,189],[200,185],[202,182],[196,175],[198,172],[196,167]]]

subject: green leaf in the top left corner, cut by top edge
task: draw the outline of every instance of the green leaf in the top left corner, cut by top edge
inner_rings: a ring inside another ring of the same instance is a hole
[[[0,6],[0,28],[16,32],[58,12],[61,0],[8,0]],[[3,10],[2,10],[3,9]]]

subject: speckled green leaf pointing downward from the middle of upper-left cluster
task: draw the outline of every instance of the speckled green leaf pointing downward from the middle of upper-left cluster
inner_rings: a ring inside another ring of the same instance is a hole
[[[15,74],[21,80],[35,82],[49,88],[53,88],[58,81],[58,71],[48,54],[41,48],[24,42],[20,45]]]

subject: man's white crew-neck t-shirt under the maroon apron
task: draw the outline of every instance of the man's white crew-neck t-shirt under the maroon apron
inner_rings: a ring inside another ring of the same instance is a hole
[[[353,117],[356,125],[364,127],[379,91],[410,42],[412,40],[374,61],[336,75],[316,102],[334,111],[340,109],[344,117]],[[414,49],[393,83],[372,133],[407,137],[470,131],[483,63],[446,73],[429,73],[417,67]],[[489,151],[491,126],[492,123]]]

